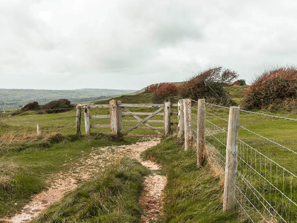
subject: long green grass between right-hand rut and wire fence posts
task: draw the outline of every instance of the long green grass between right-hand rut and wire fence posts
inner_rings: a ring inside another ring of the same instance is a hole
[[[219,176],[208,166],[198,168],[196,153],[184,151],[184,143],[176,136],[143,152],[146,159],[162,164],[167,174],[163,213],[156,222],[238,222],[237,213],[222,213],[223,188]]]

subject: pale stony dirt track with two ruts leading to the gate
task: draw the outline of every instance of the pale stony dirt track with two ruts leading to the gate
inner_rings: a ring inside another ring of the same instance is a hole
[[[159,143],[159,139],[149,139],[145,142],[137,142],[132,145],[108,146],[102,148],[92,148],[93,153],[88,155],[89,158],[81,158],[80,162],[72,163],[71,169],[66,173],[52,175],[47,180],[50,184],[48,190],[44,190],[32,197],[31,202],[25,205],[21,213],[0,219],[0,222],[23,223],[30,221],[46,208],[61,200],[64,195],[79,186],[80,182],[89,179],[100,169],[104,169],[112,163],[113,159],[120,156],[129,155],[140,161],[145,167],[151,170],[157,170],[161,167],[151,161],[141,161],[140,153],[144,150],[155,146]],[[81,151],[84,156],[84,151]],[[166,177],[153,174],[146,177],[144,182],[143,196],[140,203],[145,211],[142,216],[142,222],[147,223],[149,219],[154,219],[160,212],[159,202],[161,199],[161,191],[166,184]]]

